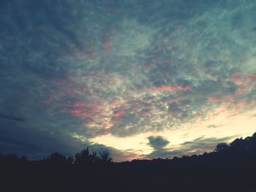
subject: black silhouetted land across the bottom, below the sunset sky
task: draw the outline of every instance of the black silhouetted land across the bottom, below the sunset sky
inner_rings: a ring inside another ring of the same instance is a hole
[[[256,134],[172,160],[58,164],[1,158],[0,169],[0,191],[255,192]]]

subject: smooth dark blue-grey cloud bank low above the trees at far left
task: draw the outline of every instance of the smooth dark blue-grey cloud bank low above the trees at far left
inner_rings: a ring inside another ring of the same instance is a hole
[[[75,146],[64,135],[50,134],[26,125],[1,121],[1,153],[16,153],[29,158],[40,158],[37,153],[49,154],[59,151],[65,154],[75,152]],[[66,136],[67,137],[67,136]]]

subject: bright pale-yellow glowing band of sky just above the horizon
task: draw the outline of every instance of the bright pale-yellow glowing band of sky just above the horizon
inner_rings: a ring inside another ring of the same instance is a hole
[[[238,137],[251,136],[256,131],[255,122],[256,109],[237,114],[222,106],[209,114],[206,119],[197,119],[176,128],[165,128],[165,130],[157,132],[149,131],[130,137],[115,137],[106,134],[91,139],[91,142],[114,147],[121,151],[132,149],[133,153],[140,154],[140,157],[145,158],[146,155],[154,151],[152,147],[148,146],[148,137],[152,135],[167,139],[170,143],[165,148],[168,150],[182,150],[182,143],[193,141],[199,137],[204,139],[227,137],[225,142],[232,142]]]

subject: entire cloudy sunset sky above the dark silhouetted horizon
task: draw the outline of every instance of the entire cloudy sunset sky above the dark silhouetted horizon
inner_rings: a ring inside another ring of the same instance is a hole
[[[255,0],[1,0],[0,153],[114,161],[256,131]]]

